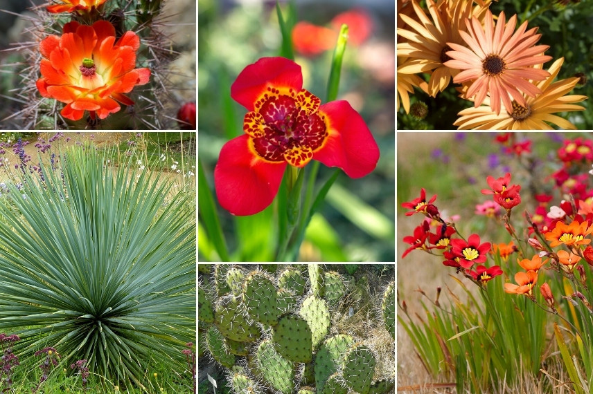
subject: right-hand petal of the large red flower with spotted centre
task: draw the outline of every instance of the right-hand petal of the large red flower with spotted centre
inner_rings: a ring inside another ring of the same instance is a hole
[[[319,107],[326,116],[329,136],[313,160],[339,167],[351,178],[360,178],[375,169],[379,147],[369,127],[348,102],[328,102]]]

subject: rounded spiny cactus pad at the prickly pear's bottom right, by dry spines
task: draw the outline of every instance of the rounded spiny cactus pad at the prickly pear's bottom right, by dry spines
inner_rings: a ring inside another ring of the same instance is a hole
[[[362,344],[354,344],[342,358],[344,382],[360,394],[368,394],[375,372],[375,356]]]

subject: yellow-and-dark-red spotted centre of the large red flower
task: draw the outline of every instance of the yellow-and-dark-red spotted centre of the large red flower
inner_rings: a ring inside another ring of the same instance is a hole
[[[294,167],[306,165],[328,137],[319,104],[321,100],[305,89],[281,93],[268,88],[243,124],[258,156]]]

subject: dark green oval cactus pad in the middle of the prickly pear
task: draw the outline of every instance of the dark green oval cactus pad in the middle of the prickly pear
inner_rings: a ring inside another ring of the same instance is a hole
[[[274,326],[274,349],[291,362],[310,362],[313,345],[311,330],[302,317],[285,315]]]

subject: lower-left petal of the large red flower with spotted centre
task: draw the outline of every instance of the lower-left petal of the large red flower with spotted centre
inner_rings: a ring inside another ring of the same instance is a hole
[[[256,155],[249,135],[233,138],[220,150],[214,185],[220,205],[233,215],[257,214],[278,194],[286,162],[269,162]]]

